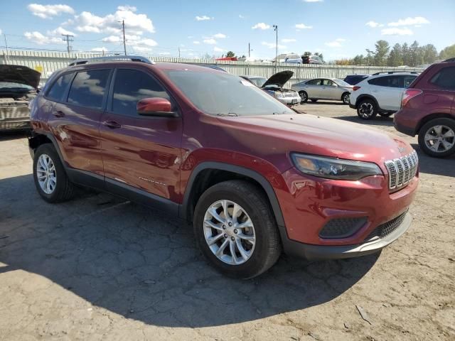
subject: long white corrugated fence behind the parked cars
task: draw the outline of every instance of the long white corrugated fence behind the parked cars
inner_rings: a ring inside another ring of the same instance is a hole
[[[93,58],[101,56],[99,53],[73,53],[70,57],[68,53],[62,52],[26,50],[1,50],[0,52],[0,64],[25,65],[31,67],[32,69],[41,72],[42,82],[45,82],[55,70],[68,66],[68,64],[76,58]],[[289,63],[279,63],[275,66],[274,63],[229,62],[216,61],[213,59],[154,57],[147,55],[146,57],[156,62],[218,65],[233,75],[255,75],[266,78],[270,77],[275,72],[291,70],[294,71],[294,76],[289,80],[289,85],[299,82],[299,80],[314,77],[344,78],[346,75],[373,74],[381,71],[422,71],[419,67],[299,65]]]

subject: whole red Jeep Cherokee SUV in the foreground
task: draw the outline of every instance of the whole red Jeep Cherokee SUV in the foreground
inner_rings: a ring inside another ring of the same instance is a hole
[[[203,254],[239,278],[282,249],[360,256],[410,227],[418,160],[399,137],[296,114],[209,67],[92,62],[56,72],[31,105],[44,200],[83,185],[166,210],[193,222]]]

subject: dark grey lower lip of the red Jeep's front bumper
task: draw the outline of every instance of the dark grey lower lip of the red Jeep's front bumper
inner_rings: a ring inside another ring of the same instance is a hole
[[[283,242],[284,251],[287,254],[299,256],[301,258],[318,260],[318,259],[344,259],[353,258],[358,256],[365,256],[367,254],[374,254],[387,245],[392,244],[398,238],[409,229],[412,222],[410,213],[405,214],[405,218],[401,224],[390,234],[387,234],[383,238],[372,239],[368,242],[355,245],[343,245],[343,246],[326,246],[326,245],[314,245],[304,244],[286,239]]]

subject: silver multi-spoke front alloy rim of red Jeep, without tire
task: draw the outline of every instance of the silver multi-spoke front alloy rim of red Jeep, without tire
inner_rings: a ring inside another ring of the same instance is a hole
[[[226,264],[240,265],[255,251],[255,227],[247,212],[236,202],[218,200],[205,212],[205,242]]]

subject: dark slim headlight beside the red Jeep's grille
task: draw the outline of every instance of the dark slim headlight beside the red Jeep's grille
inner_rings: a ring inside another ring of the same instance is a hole
[[[327,158],[291,153],[292,161],[299,171],[319,178],[337,180],[360,180],[371,175],[383,175],[378,165],[371,162]]]

